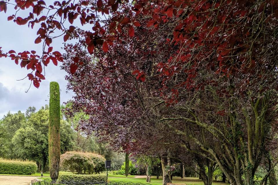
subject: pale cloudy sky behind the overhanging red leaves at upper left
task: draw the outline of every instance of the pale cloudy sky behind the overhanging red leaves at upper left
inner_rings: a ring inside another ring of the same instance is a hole
[[[47,5],[50,5],[49,3],[52,0],[47,0],[46,2],[48,3]],[[0,13],[0,47],[2,47],[2,50],[5,52],[11,49],[17,52],[35,50],[40,55],[42,46],[34,44],[37,29],[28,28],[28,25],[19,26],[13,21],[7,21],[7,17],[12,14],[14,14],[14,9],[11,6],[8,7],[6,14],[4,12]],[[21,13],[18,16],[24,15]],[[63,52],[61,50],[63,46],[62,39],[58,38],[53,41],[54,51]],[[41,106],[48,104],[49,83],[51,81],[56,81],[60,84],[61,103],[72,98],[73,92],[66,93],[65,71],[62,71],[60,67],[54,66],[53,63],[50,63],[45,69],[46,80],[43,80],[39,89],[32,85],[30,90],[25,93],[29,88],[30,81],[28,79],[17,80],[24,78],[29,72],[26,68],[16,65],[10,58],[0,58],[0,119],[8,111],[14,113],[21,110],[25,112],[29,106],[35,106],[38,110]]]

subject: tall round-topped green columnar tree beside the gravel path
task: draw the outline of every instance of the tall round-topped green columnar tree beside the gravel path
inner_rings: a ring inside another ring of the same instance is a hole
[[[60,151],[60,88],[57,82],[50,82],[48,154],[52,180],[58,179]]]

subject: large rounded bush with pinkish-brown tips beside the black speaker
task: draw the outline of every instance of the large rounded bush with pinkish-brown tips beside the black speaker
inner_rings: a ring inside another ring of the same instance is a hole
[[[105,158],[91,152],[68,151],[61,155],[63,169],[78,174],[98,173],[105,169]]]

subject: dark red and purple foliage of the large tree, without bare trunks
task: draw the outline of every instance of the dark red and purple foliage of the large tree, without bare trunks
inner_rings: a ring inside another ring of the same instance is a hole
[[[63,69],[76,93],[73,109],[90,116],[81,126],[108,134],[119,148],[147,145],[138,143],[146,135],[158,139],[145,126],[145,120],[161,116],[150,113],[157,103],[170,109],[186,102],[185,93],[207,86],[227,99],[277,89],[275,0],[73,2],[16,1],[15,9],[32,10],[28,17],[14,14],[8,20],[41,25],[35,43],[43,42],[43,53],[5,53],[0,47],[0,57],[31,69],[28,77],[36,87],[44,79],[41,65],[65,58]],[[0,11],[7,5],[12,6],[0,1]],[[76,21],[92,29],[76,29]],[[65,22],[72,25],[65,28]],[[66,45],[62,57],[50,46],[56,36],[79,42]],[[225,115],[222,110],[217,115]]]

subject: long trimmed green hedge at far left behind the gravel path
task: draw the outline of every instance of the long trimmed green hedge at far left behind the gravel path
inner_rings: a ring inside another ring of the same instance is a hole
[[[32,161],[0,159],[0,173],[31,175],[36,173],[38,166]]]

